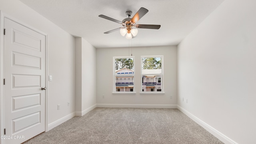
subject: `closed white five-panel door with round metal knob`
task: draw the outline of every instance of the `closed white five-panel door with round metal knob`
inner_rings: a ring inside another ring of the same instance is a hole
[[[45,131],[46,36],[8,18],[4,29],[4,144],[20,144]]]

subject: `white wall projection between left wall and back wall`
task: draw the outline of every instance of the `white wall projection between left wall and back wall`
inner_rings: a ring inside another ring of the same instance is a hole
[[[76,116],[96,107],[96,49],[76,39]]]

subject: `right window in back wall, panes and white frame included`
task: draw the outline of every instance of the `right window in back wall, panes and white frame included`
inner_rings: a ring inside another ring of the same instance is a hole
[[[141,92],[163,93],[163,56],[141,56]]]

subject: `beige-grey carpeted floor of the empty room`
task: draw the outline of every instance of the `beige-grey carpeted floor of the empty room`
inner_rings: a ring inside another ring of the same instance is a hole
[[[95,108],[24,144],[223,144],[178,109]]]

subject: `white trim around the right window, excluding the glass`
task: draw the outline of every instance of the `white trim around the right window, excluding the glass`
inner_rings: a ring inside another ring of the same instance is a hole
[[[142,92],[142,58],[161,58],[161,69],[162,69],[162,73],[161,74],[148,74],[148,75],[161,75],[162,79],[161,79],[161,92],[158,91],[154,91],[154,92],[149,92],[149,91],[143,91]],[[140,56],[140,94],[164,94],[164,56]]]

